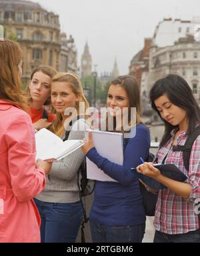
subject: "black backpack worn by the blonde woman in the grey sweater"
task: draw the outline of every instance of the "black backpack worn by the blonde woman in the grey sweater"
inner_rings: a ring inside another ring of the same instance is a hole
[[[81,119],[81,117],[77,116],[77,119],[75,121],[79,119]],[[72,127],[75,121],[71,121],[69,123],[69,126]],[[70,130],[65,131],[65,138],[63,139],[63,141],[66,141],[68,139],[69,133],[70,133]],[[79,167],[79,171],[77,171],[77,185],[79,187],[79,195],[80,195],[81,203],[83,206],[83,221],[81,223],[81,243],[85,243],[84,228],[85,228],[85,223],[89,221],[89,218],[87,217],[87,213],[86,213],[85,199],[84,199],[84,202],[82,199],[83,197],[87,197],[88,195],[91,195],[95,189],[95,181],[91,179],[87,179],[86,157],[84,157]]]

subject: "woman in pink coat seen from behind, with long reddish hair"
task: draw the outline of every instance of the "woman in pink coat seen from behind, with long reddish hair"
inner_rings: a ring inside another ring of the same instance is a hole
[[[0,242],[40,242],[33,197],[45,187],[51,165],[37,161],[31,119],[21,94],[21,49],[0,41]]]

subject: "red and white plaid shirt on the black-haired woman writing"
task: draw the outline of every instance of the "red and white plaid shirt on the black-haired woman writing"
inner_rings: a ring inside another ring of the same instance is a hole
[[[181,234],[199,229],[198,215],[194,212],[194,201],[200,198],[200,135],[193,143],[189,161],[189,172],[183,165],[183,152],[172,151],[171,143],[175,136],[175,129],[171,131],[171,139],[157,152],[157,163],[173,163],[188,179],[185,183],[191,185],[189,199],[184,199],[170,189],[159,191],[155,209],[154,225],[157,231],[167,234]],[[176,145],[184,145],[187,139],[185,131],[177,137]]]

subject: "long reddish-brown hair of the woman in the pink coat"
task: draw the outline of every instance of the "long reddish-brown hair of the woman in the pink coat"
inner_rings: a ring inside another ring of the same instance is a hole
[[[27,111],[27,100],[21,89],[19,63],[22,52],[19,45],[8,39],[0,41],[0,98]]]

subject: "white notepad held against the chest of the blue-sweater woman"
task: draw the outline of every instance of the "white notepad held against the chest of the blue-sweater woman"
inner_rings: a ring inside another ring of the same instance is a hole
[[[97,152],[113,163],[123,165],[123,134],[107,131],[93,131],[93,141]],[[87,131],[85,132],[87,137]],[[115,181],[87,158],[87,178],[97,181]]]

